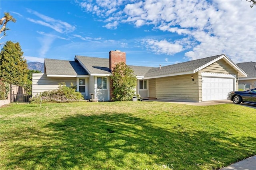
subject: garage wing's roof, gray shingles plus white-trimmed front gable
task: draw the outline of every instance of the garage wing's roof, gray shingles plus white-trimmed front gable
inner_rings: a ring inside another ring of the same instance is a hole
[[[243,70],[236,66],[236,64],[232,62],[226,55],[222,54],[212,57],[206,57],[203,59],[163,66],[161,69],[152,68],[146,73],[145,78],[159,78],[165,76],[193,74],[195,72],[198,72],[199,70],[202,70],[203,68],[206,68],[210,64],[213,64],[220,59],[224,59],[232,68],[234,68],[238,72],[239,76],[246,76],[246,73]]]

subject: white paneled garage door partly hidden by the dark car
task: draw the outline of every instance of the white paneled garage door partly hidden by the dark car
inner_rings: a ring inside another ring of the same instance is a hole
[[[226,100],[227,94],[234,90],[233,78],[202,78],[202,101]]]

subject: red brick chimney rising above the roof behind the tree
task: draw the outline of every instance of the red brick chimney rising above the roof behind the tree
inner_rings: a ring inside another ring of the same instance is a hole
[[[109,69],[112,70],[114,66],[120,62],[126,63],[126,53],[120,50],[109,52]]]

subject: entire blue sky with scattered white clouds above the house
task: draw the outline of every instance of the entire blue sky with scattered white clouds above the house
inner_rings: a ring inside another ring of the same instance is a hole
[[[162,66],[226,54],[235,63],[256,62],[256,7],[246,0],[0,1],[9,12],[7,36],[28,62],[108,58],[126,52],[126,63]]]

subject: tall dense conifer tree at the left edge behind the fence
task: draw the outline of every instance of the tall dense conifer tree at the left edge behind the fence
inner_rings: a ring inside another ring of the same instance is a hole
[[[27,82],[27,61],[19,43],[7,41],[0,53],[0,78],[10,84]]]

